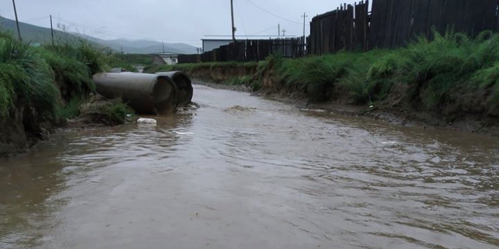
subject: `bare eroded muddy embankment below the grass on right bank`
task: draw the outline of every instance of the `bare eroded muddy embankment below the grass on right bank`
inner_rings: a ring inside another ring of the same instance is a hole
[[[428,109],[423,104],[423,94],[428,84],[395,83],[383,101],[369,104],[355,104],[351,90],[339,83],[325,85],[322,92],[326,98],[313,100],[306,87],[287,84],[273,71],[257,72],[257,66],[198,66],[187,69],[196,84],[214,88],[250,91],[248,85],[231,85],[230,80],[251,76],[258,80],[261,89],[254,95],[294,104],[304,110],[320,110],[340,115],[364,116],[396,125],[419,126],[422,129],[451,129],[499,137],[499,109],[488,106],[493,89],[470,91],[456,87],[449,92],[448,99],[438,108]],[[261,73],[259,75],[259,73]]]

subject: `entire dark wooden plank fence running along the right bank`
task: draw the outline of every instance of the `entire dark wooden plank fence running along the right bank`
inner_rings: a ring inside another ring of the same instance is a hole
[[[486,30],[499,31],[499,0],[373,0],[370,13],[369,0],[354,6],[343,4],[313,17],[306,39],[238,41],[203,53],[200,61],[248,62],[265,59],[275,52],[296,58],[339,50],[397,48],[417,36],[431,38],[432,29],[469,36]],[[179,57],[179,63],[192,61]]]

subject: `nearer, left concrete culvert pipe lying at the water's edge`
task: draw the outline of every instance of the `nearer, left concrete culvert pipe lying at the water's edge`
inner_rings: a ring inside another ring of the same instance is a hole
[[[168,76],[149,73],[97,73],[97,93],[108,99],[121,97],[139,114],[174,113],[177,85]]]

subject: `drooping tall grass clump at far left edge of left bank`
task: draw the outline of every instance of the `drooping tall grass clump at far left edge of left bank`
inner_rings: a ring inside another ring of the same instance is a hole
[[[9,36],[0,37],[0,115],[22,107],[55,118],[58,98],[53,73],[39,52]]]

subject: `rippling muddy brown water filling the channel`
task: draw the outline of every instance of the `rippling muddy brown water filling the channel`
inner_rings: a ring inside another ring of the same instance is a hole
[[[195,92],[0,161],[0,248],[499,248],[499,141]]]

